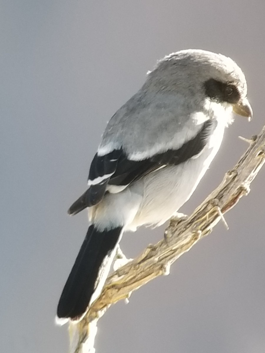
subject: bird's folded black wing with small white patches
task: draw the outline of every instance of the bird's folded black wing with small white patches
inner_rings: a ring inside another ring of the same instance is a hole
[[[96,154],[89,170],[88,184],[90,187],[72,204],[68,213],[73,215],[84,208],[99,203],[104,197],[108,185],[122,186],[121,190],[123,190],[133,181],[160,167],[184,163],[189,158],[199,154],[207,143],[207,137],[213,124],[216,124],[216,122],[207,120],[198,134],[179,149],[170,149],[145,160],[130,160],[122,148],[113,150],[104,156]]]

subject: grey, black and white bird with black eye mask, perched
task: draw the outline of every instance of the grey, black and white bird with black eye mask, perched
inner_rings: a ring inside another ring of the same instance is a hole
[[[251,120],[245,75],[227,56],[200,49],[166,55],[107,123],[88,189],[68,210],[90,226],[65,283],[57,323],[80,321],[100,295],[120,239],[163,225],[190,198],[234,114]]]

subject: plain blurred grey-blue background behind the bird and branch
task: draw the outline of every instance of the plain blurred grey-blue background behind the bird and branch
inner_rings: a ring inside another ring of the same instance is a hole
[[[264,125],[265,2],[3,0],[0,4],[0,342],[68,351],[54,316],[87,231],[67,208],[85,190],[106,121],[165,54],[200,48],[246,74],[254,119],[236,117],[190,201],[219,184]],[[99,322],[97,353],[265,352],[265,168],[251,193],[171,267]],[[125,234],[134,257],[164,227]]]

